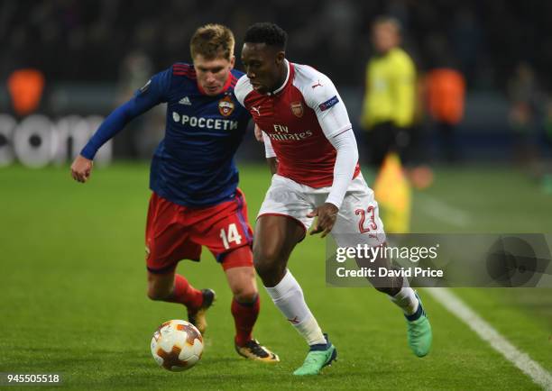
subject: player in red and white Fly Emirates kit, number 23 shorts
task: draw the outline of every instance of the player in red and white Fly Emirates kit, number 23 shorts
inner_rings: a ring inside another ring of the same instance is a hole
[[[287,268],[290,253],[315,217],[310,233],[331,232],[338,246],[382,246],[385,235],[341,96],[327,76],[285,59],[286,41],[286,32],[272,23],[255,23],[245,32],[246,75],[235,95],[263,131],[274,174],[257,218],[254,266],[274,304],[308,342],[307,359],[294,374],[315,375],[336,359],[336,348]],[[374,260],[371,267],[390,267],[387,259]],[[408,281],[371,282],[404,312],[410,349],[419,357],[428,354],[431,326]]]

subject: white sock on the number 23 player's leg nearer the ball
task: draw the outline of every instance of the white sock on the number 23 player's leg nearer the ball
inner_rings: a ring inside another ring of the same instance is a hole
[[[281,313],[293,324],[295,330],[303,336],[309,345],[326,343],[317,320],[308,309],[307,303],[305,303],[303,291],[295,277],[291,275],[290,270],[286,271],[286,275],[278,285],[265,287],[274,305],[280,309]]]

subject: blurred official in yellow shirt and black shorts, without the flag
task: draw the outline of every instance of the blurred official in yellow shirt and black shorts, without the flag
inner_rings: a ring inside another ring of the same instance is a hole
[[[372,30],[375,55],[366,66],[361,125],[366,134],[370,164],[376,170],[390,151],[399,154],[409,144],[414,119],[416,68],[400,49],[400,23],[382,16]]]

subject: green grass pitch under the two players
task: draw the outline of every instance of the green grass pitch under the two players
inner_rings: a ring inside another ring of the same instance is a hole
[[[266,168],[242,167],[251,220],[268,185]],[[152,332],[163,321],[185,318],[185,311],[145,295],[149,194],[147,165],[96,169],[86,185],[74,182],[67,167],[0,168],[0,372],[59,372],[58,389],[538,389],[423,289],[434,346],[428,357],[414,357],[404,319],[386,297],[372,288],[326,286],[324,241],[317,237],[299,244],[290,269],[336,344],[334,366],[317,377],[291,376],[307,349],[263,289],[254,334],[281,363],[240,358],[229,289],[204,250],[200,263],[179,265],[195,286],[217,293],[203,359],[186,372],[158,368],[149,348]],[[467,217],[461,225],[448,221],[431,210],[435,200]],[[550,205],[552,195],[511,169],[437,169],[434,186],[414,194],[413,231],[551,232]],[[455,293],[552,370],[552,289]]]

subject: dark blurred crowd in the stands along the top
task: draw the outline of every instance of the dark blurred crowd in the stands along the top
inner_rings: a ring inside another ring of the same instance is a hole
[[[34,67],[41,68],[49,82],[114,82],[113,69],[129,49],[143,50],[159,69],[180,58],[175,52],[186,51],[180,42],[195,26],[220,22],[239,32],[244,25],[271,20],[301,37],[288,48],[299,62],[316,63],[337,85],[352,86],[363,68],[362,50],[359,53],[354,46],[366,37],[363,19],[385,13],[408,27],[405,43],[410,54],[419,54],[421,63],[431,50],[428,36],[446,37],[470,87],[503,88],[515,67],[512,59],[519,58],[530,59],[549,85],[551,12],[551,2],[512,0],[304,0],[300,6],[281,0],[262,7],[253,0],[239,5],[172,0],[167,6],[138,0],[4,1],[0,2],[0,71],[7,75],[14,68]],[[241,42],[237,43],[239,48]]]

